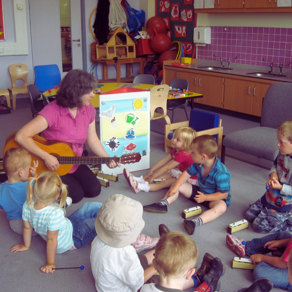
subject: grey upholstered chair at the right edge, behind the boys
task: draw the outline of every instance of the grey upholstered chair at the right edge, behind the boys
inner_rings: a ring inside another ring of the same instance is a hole
[[[260,127],[236,131],[223,138],[221,161],[225,160],[225,147],[274,161],[279,153],[277,126],[292,118],[292,83],[271,84],[263,99]]]

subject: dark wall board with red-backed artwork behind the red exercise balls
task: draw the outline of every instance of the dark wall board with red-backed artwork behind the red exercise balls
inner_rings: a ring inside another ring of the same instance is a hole
[[[156,15],[166,22],[166,33],[171,41],[181,41],[185,46],[185,55],[192,56],[196,23],[194,0],[157,0],[156,8]]]

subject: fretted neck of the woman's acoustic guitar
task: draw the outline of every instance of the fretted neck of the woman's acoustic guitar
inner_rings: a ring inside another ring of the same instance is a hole
[[[96,157],[96,156],[57,156],[59,164],[109,164],[112,160],[121,162],[120,157]]]

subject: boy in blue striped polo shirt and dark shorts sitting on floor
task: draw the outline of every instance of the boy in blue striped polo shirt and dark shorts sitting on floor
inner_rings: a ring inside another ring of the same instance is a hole
[[[149,212],[166,213],[167,206],[173,203],[178,194],[209,207],[198,217],[184,220],[184,226],[189,234],[195,227],[211,222],[225,213],[230,205],[230,173],[218,159],[218,145],[213,136],[201,135],[192,142],[192,159],[194,163],[184,171],[158,203],[144,206]],[[198,175],[199,186],[186,183],[191,176]]]

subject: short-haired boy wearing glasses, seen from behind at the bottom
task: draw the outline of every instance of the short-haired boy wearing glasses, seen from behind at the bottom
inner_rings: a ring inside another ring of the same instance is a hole
[[[197,257],[197,245],[185,233],[173,231],[162,235],[156,245],[153,259],[153,265],[160,275],[160,284],[143,285],[141,292],[177,292],[197,286],[195,291],[215,291],[224,272],[223,263],[219,258],[213,259],[206,274],[206,278],[211,281],[203,281],[200,284],[195,275]]]

